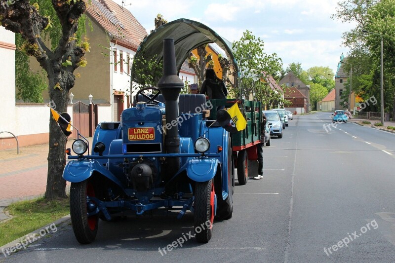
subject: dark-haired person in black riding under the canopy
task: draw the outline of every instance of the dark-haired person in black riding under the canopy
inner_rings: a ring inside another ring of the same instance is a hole
[[[200,94],[206,94],[208,99],[226,99],[228,90],[224,81],[217,77],[213,69],[206,70],[206,76],[201,84]],[[225,106],[218,106],[217,111],[224,109]]]

